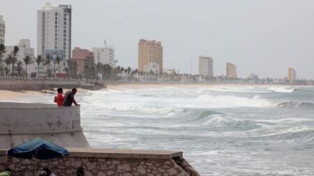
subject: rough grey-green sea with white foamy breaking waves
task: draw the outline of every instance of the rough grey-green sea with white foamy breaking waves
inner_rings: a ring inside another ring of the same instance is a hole
[[[75,97],[92,147],[183,151],[200,175],[314,175],[313,87],[165,86]]]

